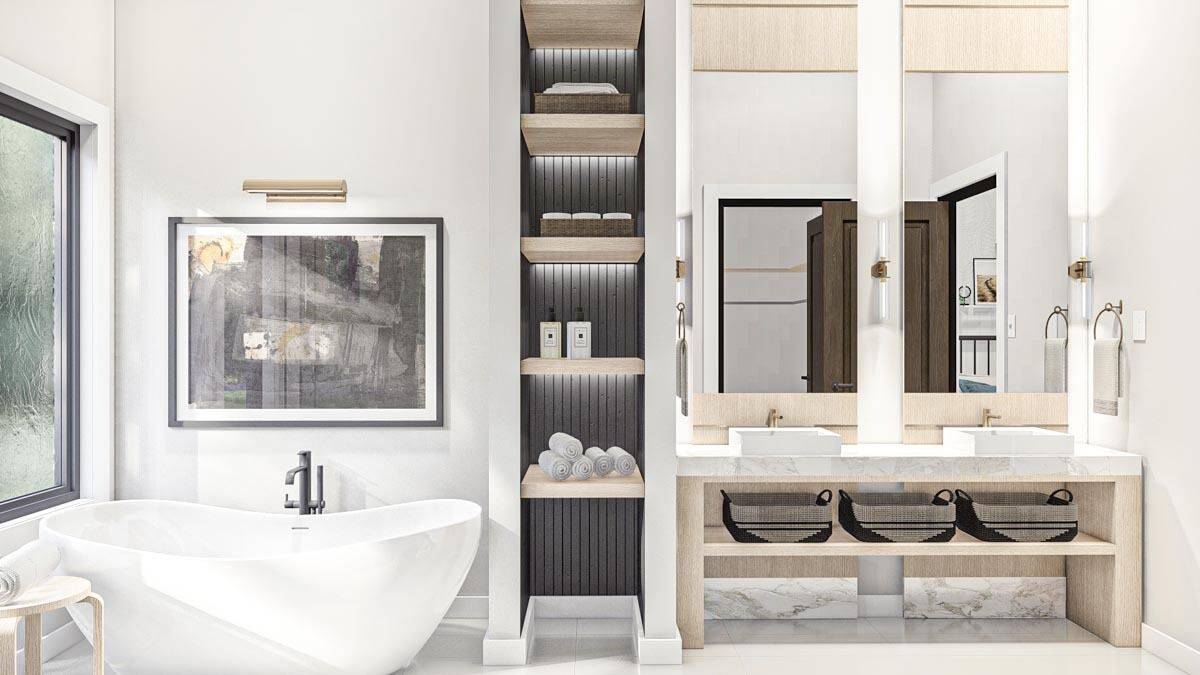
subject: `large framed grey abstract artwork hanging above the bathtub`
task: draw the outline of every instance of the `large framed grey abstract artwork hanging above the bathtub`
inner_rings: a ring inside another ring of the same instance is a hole
[[[169,219],[172,426],[440,426],[442,219]]]

